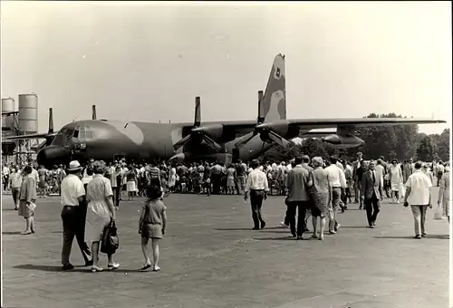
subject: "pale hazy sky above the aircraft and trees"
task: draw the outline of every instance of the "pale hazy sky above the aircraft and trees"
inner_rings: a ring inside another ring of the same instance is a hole
[[[451,123],[451,5],[1,2],[2,97],[39,96],[39,130],[77,118],[254,120],[275,54],[288,118],[371,112]],[[17,102],[16,102],[17,103]],[[420,126],[439,133],[448,125]]]

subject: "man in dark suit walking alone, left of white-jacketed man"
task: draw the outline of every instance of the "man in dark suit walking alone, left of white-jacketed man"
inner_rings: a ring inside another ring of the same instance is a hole
[[[368,171],[361,178],[361,199],[367,211],[368,225],[371,228],[376,226],[376,219],[380,212],[380,200],[382,196],[382,182],[376,175],[376,162],[371,160],[368,164]]]

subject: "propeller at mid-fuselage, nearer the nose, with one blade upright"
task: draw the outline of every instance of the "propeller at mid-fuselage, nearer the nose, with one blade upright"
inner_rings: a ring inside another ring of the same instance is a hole
[[[201,143],[204,140],[210,148],[215,149],[218,152],[222,149],[222,147],[216,141],[207,136],[207,129],[208,128],[201,126],[201,103],[200,97],[197,96],[195,98],[194,125],[186,137],[182,138],[173,145],[173,149],[177,150],[186,145],[189,141]]]

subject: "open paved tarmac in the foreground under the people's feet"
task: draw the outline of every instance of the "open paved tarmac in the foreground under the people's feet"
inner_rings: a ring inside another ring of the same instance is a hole
[[[434,199],[437,200],[437,188]],[[36,234],[21,236],[24,218],[2,199],[4,307],[186,308],[435,308],[448,306],[448,222],[427,216],[428,236],[413,239],[410,208],[386,199],[375,229],[350,205],[337,235],[294,240],[281,228],[284,197],[269,197],[265,229],[251,230],[249,204],[239,196],[171,195],[160,272],[141,273],[138,234],[144,201],[117,212],[120,269],[92,274],[72,246],[61,271],[58,197],[36,201]],[[312,229],[311,223],[309,228]],[[305,234],[308,238],[311,233]],[[149,247],[150,249],[150,247]],[[101,254],[100,265],[107,257]]]

